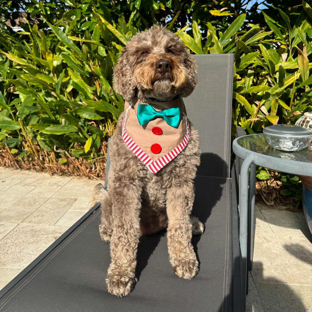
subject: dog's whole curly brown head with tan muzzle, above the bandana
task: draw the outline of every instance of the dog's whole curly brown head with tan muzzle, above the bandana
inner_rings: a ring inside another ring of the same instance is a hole
[[[195,60],[178,36],[153,26],[127,42],[113,83],[125,100],[134,96],[158,101],[186,97],[197,84]]]

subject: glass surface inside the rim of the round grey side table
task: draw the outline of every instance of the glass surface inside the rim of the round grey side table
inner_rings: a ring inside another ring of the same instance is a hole
[[[285,152],[279,149],[274,149],[263,134],[250,134],[237,139],[236,143],[244,149],[251,152],[267,155],[275,158],[300,161],[304,163],[312,163],[312,148],[301,149],[300,151]]]

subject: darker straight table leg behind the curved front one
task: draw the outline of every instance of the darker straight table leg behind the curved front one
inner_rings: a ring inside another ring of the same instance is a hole
[[[250,182],[249,182],[249,207],[248,207],[248,246],[247,260],[248,271],[252,270],[253,249],[255,242],[255,191],[256,191],[256,165],[250,165]]]

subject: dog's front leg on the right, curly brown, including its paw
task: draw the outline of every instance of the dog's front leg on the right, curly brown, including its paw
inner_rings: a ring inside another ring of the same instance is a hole
[[[194,252],[190,214],[193,207],[193,181],[188,180],[167,190],[168,252],[173,271],[178,276],[191,279],[198,272]]]

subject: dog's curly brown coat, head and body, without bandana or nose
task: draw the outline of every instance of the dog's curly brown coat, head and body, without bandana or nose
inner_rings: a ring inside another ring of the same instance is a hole
[[[159,59],[171,69],[155,68]],[[114,88],[125,100],[170,101],[190,95],[197,84],[194,58],[178,37],[163,27],[153,26],[132,37],[119,56],[114,70]],[[100,236],[110,242],[112,262],[106,279],[114,295],[129,294],[136,282],[136,253],[140,234],[167,228],[168,252],[174,272],[191,279],[198,262],[191,244],[203,224],[191,216],[193,179],[200,162],[198,134],[191,125],[185,149],[157,173],[151,173],[124,143],[122,116],[110,142],[107,193],[102,184],[93,192],[92,203],[101,203]]]

